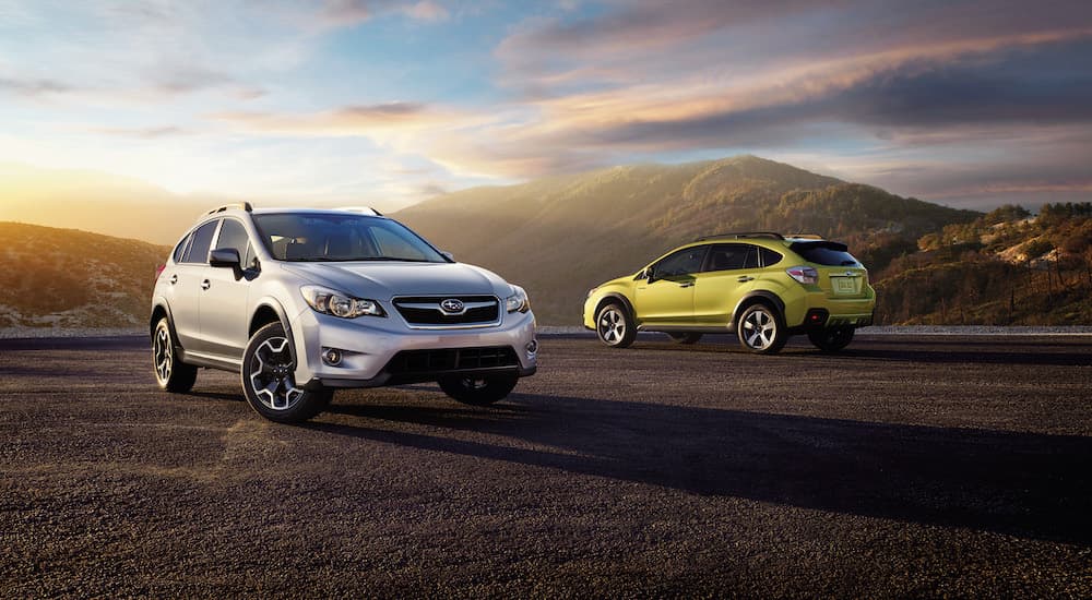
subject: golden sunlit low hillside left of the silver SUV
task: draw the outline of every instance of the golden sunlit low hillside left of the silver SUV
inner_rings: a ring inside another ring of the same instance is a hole
[[[170,249],[75,229],[0,223],[0,327],[146,323],[155,267]]]

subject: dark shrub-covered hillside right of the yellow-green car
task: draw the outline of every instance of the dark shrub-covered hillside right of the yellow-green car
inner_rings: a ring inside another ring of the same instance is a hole
[[[1002,206],[918,240],[874,275],[882,322],[1092,323],[1092,204]]]

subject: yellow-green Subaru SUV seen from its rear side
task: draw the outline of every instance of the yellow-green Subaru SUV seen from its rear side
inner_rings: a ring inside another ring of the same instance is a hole
[[[634,275],[587,292],[584,326],[625,348],[637,332],[680,344],[735,333],[749,351],[774,353],[794,334],[838,351],[870,325],[876,291],[845,244],[818,236],[724,233],[664,254]]]

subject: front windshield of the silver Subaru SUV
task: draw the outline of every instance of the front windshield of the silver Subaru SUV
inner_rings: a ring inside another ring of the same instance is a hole
[[[254,215],[262,243],[278,261],[447,263],[404,225],[381,217],[317,213]]]

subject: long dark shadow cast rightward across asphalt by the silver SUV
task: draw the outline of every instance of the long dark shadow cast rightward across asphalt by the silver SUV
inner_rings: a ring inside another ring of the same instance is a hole
[[[491,409],[335,404],[339,422],[304,427],[696,494],[1092,545],[1088,437],[530,394],[510,400]],[[400,431],[404,423],[438,431]],[[466,441],[456,431],[514,442]]]

